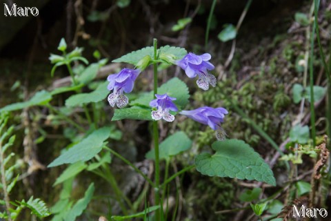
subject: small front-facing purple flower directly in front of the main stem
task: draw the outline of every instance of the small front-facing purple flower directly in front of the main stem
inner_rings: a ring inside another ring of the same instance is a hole
[[[157,108],[157,111],[152,111],[152,119],[159,120],[165,119],[167,122],[174,121],[174,115],[171,115],[169,111],[178,111],[177,106],[172,102],[176,98],[169,97],[167,94],[155,95],[157,99],[153,99],[150,102],[150,106]]]

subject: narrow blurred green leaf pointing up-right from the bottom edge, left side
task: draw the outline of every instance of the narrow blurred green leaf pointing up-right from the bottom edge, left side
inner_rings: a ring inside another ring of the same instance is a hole
[[[88,186],[88,190],[86,191],[84,198],[78,200],[72,209],[70,209],[69,213],[66,215],[66,221],[74,221],[76,218],[83,213],[83,211],[88,207],[88,203],[91,201],[94,193],[94,183]]]

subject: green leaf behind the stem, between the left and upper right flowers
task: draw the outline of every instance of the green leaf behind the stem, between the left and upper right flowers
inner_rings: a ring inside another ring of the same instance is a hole
[[[185,105],[188,104],[188,98],[190,97],[188,93],[188,86],[186,86],[186,84],[177,77],[174,77],[165,84],[162,84],[162,86],[157,89],[157,93],[159,95],[167,93],[170,97],[176,97],[177,99],[174,101],[174,104],[176,104],[178,108],[184,108]],[[153,91],[142,95],[138,99],[130,102],[130,104],[150,107],[150,101],[152,99],[155,99]]]

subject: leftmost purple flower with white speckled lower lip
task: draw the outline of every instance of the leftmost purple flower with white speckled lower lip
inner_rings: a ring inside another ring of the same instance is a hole
[[[129,103],[128,97],[123,95],[123,93],[132,91],[134,81],[140,73],[140,69],[123,68],[119,73],[108,76],[108,90],[113,90],[108,96],[110,106],[114,107],[116,104],[118,108],[123,108]]]

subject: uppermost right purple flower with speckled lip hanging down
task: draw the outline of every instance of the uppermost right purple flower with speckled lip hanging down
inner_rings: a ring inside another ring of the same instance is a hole
[[[177,65],[185,70],[188,77],[193,78],[199,76],[197,85],[203,90],[208,90],[209,84],[216,86],[216,77],[208,73],[208,70],[213,70],[214,66],[209,62],[212,56],[208,53],[203,55],[194,55],[188,53],[183,59],[177,61]]]

